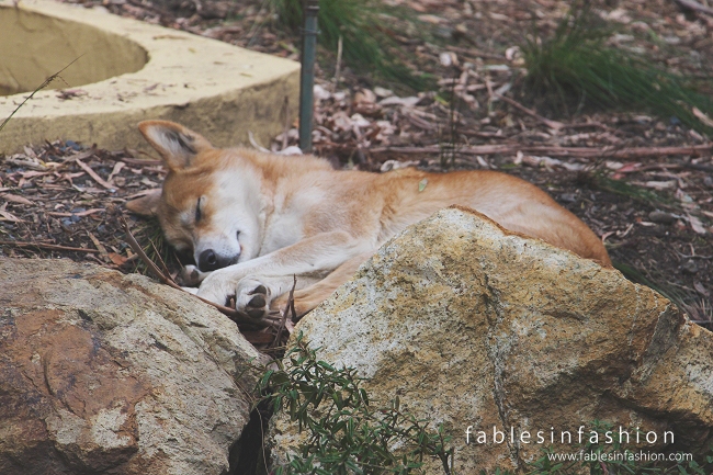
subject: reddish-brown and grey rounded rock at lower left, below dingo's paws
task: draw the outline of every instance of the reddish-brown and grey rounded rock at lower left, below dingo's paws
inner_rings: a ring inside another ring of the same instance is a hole
[[[0,259],[0,473],[225,474],[259,360],[142,275]]]

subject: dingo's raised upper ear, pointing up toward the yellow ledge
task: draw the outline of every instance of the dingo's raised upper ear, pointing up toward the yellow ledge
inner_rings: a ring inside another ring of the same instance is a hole
[[[213,148],[200,134],[174,122],[144,121],[138,124],[138,129],[151,147],[161,154],[170,169],[185,168],[199,152]]]

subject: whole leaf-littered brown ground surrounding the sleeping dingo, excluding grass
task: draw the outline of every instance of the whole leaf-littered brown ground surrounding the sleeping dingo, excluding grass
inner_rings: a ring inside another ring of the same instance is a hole
[[[522,177],[601,236],[625,275],[664,293],[692,320],[711,328],[713,144],[708,137],[683,127],[677,117],[643,112],[585,109],[554,115],[546,104],[520,93],[522,60],[514,46],[533,27],[543,36],[551,34],[568,2],[383,1],[408,9],[409,20],[395,19],[405,31],[409,22],[428,30],[428,39],[396,36],[405,60],[433,75],[439,87],[409,93],[343,65],[336,80],[336,58],[321,52],[317,155],[339,168],[374,172],[408,165]],[[84,2],[296,59],[298,36],[278,27],[268,3]],[[713,16],[684,12],[674,0],[596,7],[620,31],[610,38],[615,46],[695,78],[711,76]],[[533,106],[548,118],[528,110]],[[280,149],[296,142],[291,128],[263,145]],[[71,137],[0,156],[0,256],[67,257],[133,271],[138,259],[118,216],[127,216],[149,251],[151,239],[160,247],[156,224],[127,215],[123,204],[159,186],[162,176],[158,157],[95,149]],[[177,260],[162,253],[174,271]]]

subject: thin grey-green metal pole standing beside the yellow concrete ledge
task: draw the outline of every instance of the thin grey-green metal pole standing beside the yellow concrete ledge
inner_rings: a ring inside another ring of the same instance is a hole
[[[305,27],[302,32],[302,76],[299,78],[299,148],[312,152],[312,121],[315,99],[315,56],[317,50],[317,14],[319,0],[305,0]]]

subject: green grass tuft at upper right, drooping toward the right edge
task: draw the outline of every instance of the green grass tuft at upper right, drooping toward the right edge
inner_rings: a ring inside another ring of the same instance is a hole
[[[655,67],[644,57],[607,46],[611,30],[584,2],[575,3],[546,41],[528,41],[522,53],[527,84],[534,97],[554,98],[568,113],[577,101],[604,108],[649,111],[664,120],[711,133],[692,108],[713,113],[713,100],[683,76]]]

